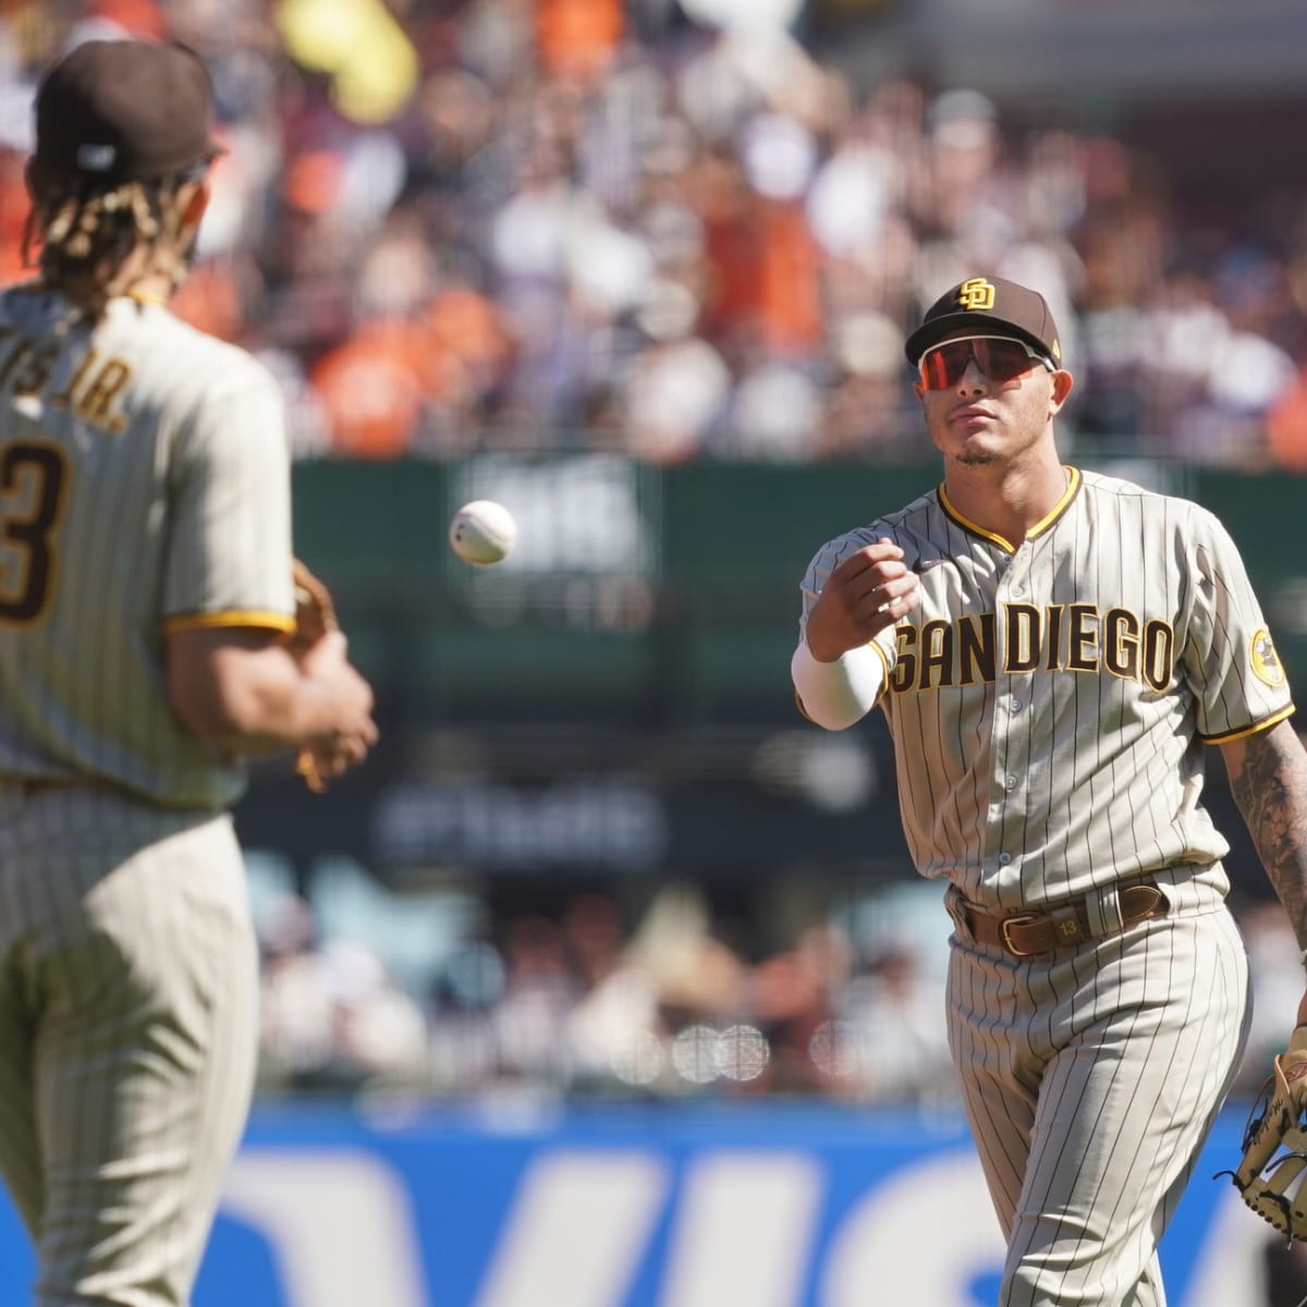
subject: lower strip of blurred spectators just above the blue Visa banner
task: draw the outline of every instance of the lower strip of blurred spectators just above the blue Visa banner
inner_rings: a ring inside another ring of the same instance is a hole
[[[254,884],[265,1095],[958,1106],[948,918],[938,886],[908,873],[838,893],[770,949],[759,941],[775,931],[742,929],[687,884],[635,911],[614,887],[498,912],[393,894],[361,868],[335,868],[310,898],[257,864]],[[1278,903],[1236,915],[1255,1018],[1234,1097],[1251,1102],[1303,974]],[[408,948],[414,921],[421,942]]]

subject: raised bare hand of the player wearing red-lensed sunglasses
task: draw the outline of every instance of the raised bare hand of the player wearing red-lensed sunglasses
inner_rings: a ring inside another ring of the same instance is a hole
[[[865,644],[921,601],[920,578],[903,562],[903,550],[877,540],[846,558],[826,578],[808,614],[808,648],[818,663]]]

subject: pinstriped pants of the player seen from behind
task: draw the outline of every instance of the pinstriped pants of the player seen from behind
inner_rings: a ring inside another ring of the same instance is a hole
[[[230,818],[0,795],[0,1171],[38,1307],[182,1307],[254,1084]]]

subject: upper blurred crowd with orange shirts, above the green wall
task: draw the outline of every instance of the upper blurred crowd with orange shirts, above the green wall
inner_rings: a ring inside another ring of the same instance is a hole
[[[1055,310],[1068,452],[1307,468],[1307,186],[1189,213],[1111,135],[856,85],[797,3],[0,10],[0,273],[43,63],[193,44],[229,153],[178,308],[274,370],[302,457],[916,460],[904,329],[983,269]]]

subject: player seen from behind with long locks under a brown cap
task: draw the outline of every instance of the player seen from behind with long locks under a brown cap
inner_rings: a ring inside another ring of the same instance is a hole
[[[302,661],[271,376],[167,308],[212,93],[88,42],[37,91],[41,280],[0,294],[0,1172],[41,1307],[175,1307],[252,1090],[242,757],[376,738],[341,637]]]

